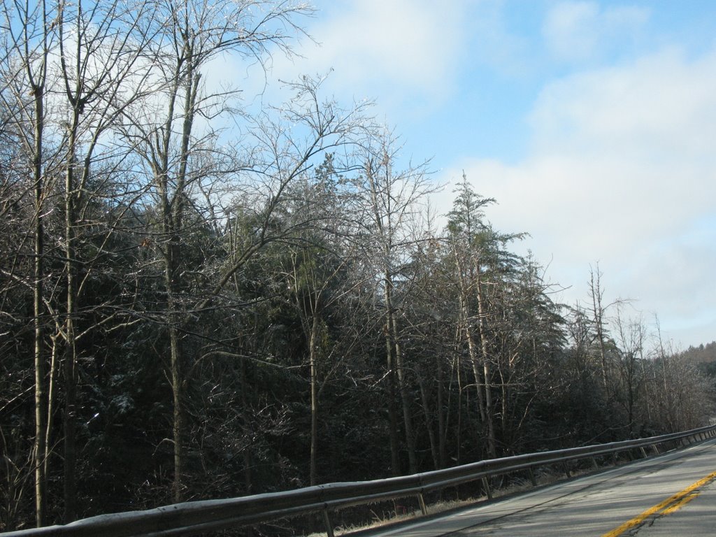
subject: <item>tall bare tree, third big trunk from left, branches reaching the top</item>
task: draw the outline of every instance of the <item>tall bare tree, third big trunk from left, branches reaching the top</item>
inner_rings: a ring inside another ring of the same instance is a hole
[[[192,195],[198,183],[212,175],[211,170],[196,167],[198,155],[216,137],[211,127],[198,122],[226,111],[227,100],[235,95],[233,91],[206,88],[203,72],[222,54],[240,54],[263,62],[271,54],[269,47],[288,52],[290,40],[301,33],[296,16],[309,13],[309,9],[305,4],[286,1],[171,0],[152,4],[155,16],[139,25],[145,33],[156,36],[153,67],[158,100],[153,111],[151,107],[127,111],[125,135],[150,170],[159,214],[155,238],[164,271],[174,407],[173,499],[179,501],[183,498],[186,441],[182,240]]]

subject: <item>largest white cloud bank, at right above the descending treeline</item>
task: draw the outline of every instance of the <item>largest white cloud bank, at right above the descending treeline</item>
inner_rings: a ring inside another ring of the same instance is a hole
[[[614,298],[638,299],[687,343],[697,329],[716,338],[716,52],[667,50],[547,84],[531,122],[523,163],[460,165],[500,203],[495,226],[531,233],[548,276],[574,286],[566,298],[586,297],[599,261]]]

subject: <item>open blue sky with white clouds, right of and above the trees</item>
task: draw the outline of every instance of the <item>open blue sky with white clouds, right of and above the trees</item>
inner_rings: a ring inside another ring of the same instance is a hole
[[[447,213],[463,171],[487,218],[527,232],[553,299],[606,303],[683,349],[716,340],[716,2],[314,0],[301,57],[374,100]],[[616,313],[616,311],[614,311]]]

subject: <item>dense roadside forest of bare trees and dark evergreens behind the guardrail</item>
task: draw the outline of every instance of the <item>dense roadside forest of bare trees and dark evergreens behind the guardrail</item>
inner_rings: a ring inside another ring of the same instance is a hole
[[[1,6],[0,531],[708,422],[714,344],[598,266],[553,301],[369,103],[208,77],[291,54],[303,4]]]

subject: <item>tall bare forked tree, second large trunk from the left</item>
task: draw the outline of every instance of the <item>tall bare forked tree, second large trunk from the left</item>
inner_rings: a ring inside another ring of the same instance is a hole
[[[120,0],[83,4],[80,0],[58,12],[59,92],[64,126],[64,264],[66,300],[62,337],[64,356],[64,520],[76,518],[77,448],[77,329],[79,302],[92,274],[95,258],[80,258],[82,229],[89,227],[89,206],[97,203],[89,183],[98,185],[97,153],[102,163],[121,162],[129,153],[112,130],[130,105],[143,100],[150,69],[147,47],[153,39],[139,32],[137,21],[153,17],[147,2],[125,4]],[[116,141],[115,141],[116,140]],[[114,147],[113,147],[114,146]],[[97,188],[97,187],[95,187]],[[119,200],[115,200],[115,203]],[[112,233],[109,226],[108,233]],[[104,242],[107,241],[105,234]],[[102,248],[99,248],[102,251]],[[82,272],[79,267],[82,266]]]

